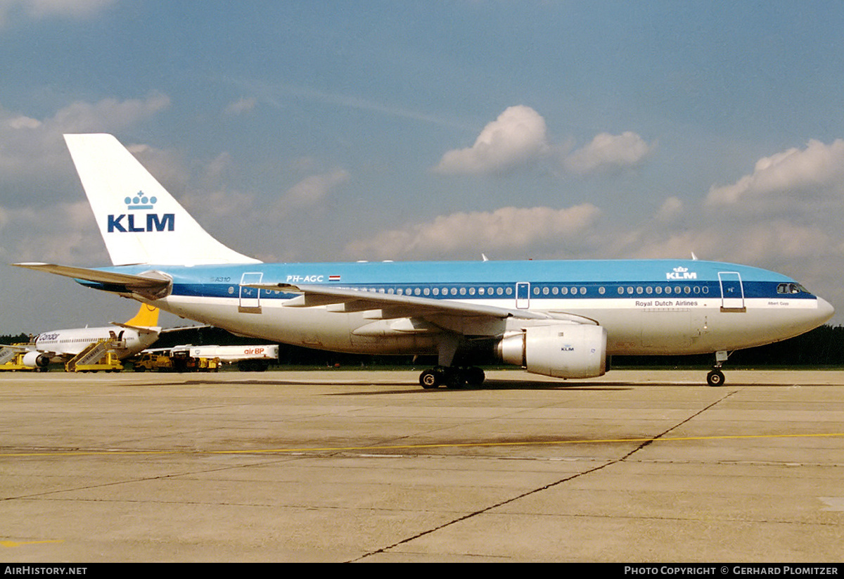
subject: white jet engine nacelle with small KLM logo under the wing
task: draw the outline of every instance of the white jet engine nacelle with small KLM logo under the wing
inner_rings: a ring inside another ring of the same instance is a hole
[[[587,324],[526,327],[497,347],[501,360],[533,374],[591,378],[607,371],[607,330]]]

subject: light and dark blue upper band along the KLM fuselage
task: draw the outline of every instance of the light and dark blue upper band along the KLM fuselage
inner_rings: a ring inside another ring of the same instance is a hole
[[[814,295],[805,291],[779,293],[778,285],[796,284],[779,273],[733,263],[690,260],[254,263],[102,269],[133,274],[160,270],[173,278],[175,295],[218,298],[239,296],[243,276],[257,279],[260,274],[265,284],[326,284],[393,295],[399,292],[408,295],[409,291],[409,295],[449,300],[515,299],[516,284],[520,282],[530,284],[531,299],[720,297],[722,284],[732,284],[735,292],[738,289],[735,282],[740,277],[744,297],[748,299],[814,299]],[[440,283],[436,280],[452,281]],[[102,285],[96,287],[116,290]],[[265,299],[279,300],[294,296],[266,290],[262,290],[261,295]]]

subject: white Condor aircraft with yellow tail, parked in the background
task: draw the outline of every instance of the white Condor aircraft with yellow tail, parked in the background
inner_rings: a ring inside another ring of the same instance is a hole
[[[3,350],[26,352],[22,364],[30,368],[46,368],[50,362],[66,362],[91,344],[111,339],[116,344],[115,354],[123,360],[138,354],[158,339],[161,328],[159,310],[141,304],[138,314],[126,323],[111,322],[107,327],[74,327],[52,330],[35,337],[31,346],[3,346]]]

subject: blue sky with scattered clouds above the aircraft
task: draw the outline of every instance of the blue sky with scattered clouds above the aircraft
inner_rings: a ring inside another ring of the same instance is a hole
[[[837,0],[0,0],[0,333],[137,309],[5,265],[110,265],[62,133],[263,261],[694,252],[842,323],[841,30]]]

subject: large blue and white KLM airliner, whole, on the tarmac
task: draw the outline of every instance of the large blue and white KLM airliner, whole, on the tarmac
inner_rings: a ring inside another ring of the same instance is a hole
[[[479,385],[455,355],[560,378],[611,354],[715,354],[791,338],[832,306],[779,273],[697,260],[262,263],[187,214],[111,135],[65,135],[111,262],[21,267],[68,276],[233,333],[365,354],[436,354],[423,387]]]

